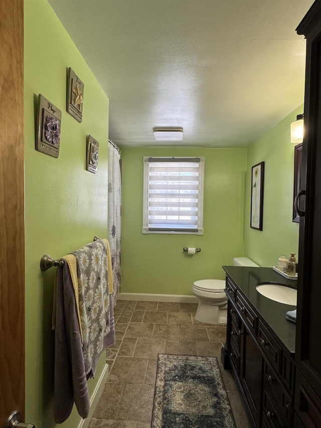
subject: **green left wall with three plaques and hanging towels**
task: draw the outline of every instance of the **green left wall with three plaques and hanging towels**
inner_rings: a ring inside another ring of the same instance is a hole
[[[83,121],[66,112],[66,71],[84,82]],[[62,110],[60,157],[35,151],[35,99],[43,94]],[[86,135],[99,141],[98,174],[86,171]],[[42,272],[43,254],[59,258],[107,235],[108,99],[46,0],[25,0],[26,174],[26,420],[38,428],[53,420],[54,268]],[[104,368],[100,359],[90,395]],[[61,426],[75,428],[73,410]]]

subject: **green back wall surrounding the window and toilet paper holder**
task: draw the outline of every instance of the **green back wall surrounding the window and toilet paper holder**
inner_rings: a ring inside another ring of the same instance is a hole
[[[143,156],[205,156],[204,235],[142,234]],[[121,292],[192,295],[243,255],[247,149],[122,148]],[[200,247],[188,255],[183,247]]]

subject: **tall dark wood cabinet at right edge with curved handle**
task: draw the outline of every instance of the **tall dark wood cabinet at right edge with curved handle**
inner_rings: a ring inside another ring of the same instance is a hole
[[[295,427],[321,427],[321,0],[296,29],[306,38],[296,323]],[[305,195],[305,196],[304,196]]]

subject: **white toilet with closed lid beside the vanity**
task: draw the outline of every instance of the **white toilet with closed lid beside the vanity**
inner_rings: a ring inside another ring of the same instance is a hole
[[[247,257],[233,258],[234,266],[259,267]],[[207,324],[226,324],[227,296],[225,280],[200,279],[194,282],[193,294],[199,299],[195,319]]]

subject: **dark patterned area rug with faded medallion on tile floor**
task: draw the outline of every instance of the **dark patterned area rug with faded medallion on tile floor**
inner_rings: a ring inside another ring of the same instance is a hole
[[[236,428],[216,357],[158,354],[151,428]]]

